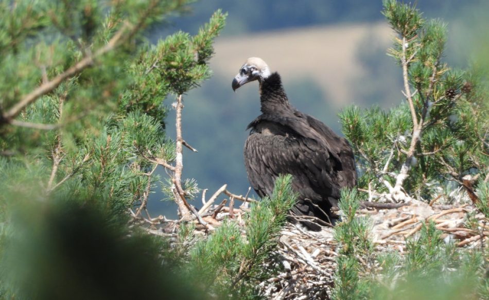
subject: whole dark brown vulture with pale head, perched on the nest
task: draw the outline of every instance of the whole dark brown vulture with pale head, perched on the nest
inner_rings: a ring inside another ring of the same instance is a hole
[[[249,125],[245,143],[248,180],[258,196],[270,196],[279,174],[292,174],[292,186],[299,198],[291,213],[317,217],[334,224],[340,189],[357,183],[355,159],[347,140],[323,122],[296,110],[285,94],[278,73],[271,73],[260,58],[249,58],[233,80],[236,91],[257,80],[261,115]],[[297,218],[301,219],[301,218]],[[312,230],[319,226],[304,218]]]

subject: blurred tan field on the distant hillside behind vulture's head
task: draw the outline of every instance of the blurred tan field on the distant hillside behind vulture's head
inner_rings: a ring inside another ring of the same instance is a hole
[[[385,23],[345,24],[268,31],[236,38],[219,38],[211,67],[229,74],[230,82],[248,57],[261,57],[285,80],[312,78],[337,107],[353,99],[354,78],[368,76],[358,63],[359,47],[366,39],[387,49],[393,37]],[[384,51],[385,53],[385,51]],[[287,86],[286,86],[287,90]]]

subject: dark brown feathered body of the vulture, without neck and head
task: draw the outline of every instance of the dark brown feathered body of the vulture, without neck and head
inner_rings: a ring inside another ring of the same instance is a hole
[[[263,114],[250,127],[245,165],[258,195],[270,196],[278,175],[292,174],[292,186],[299,193],[292,212],[329,221],[340,189],[356,185],[355,161],[348,142],[321,121],[296,110]]]

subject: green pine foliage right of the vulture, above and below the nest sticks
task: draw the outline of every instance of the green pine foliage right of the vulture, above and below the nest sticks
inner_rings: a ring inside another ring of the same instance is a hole
[[[390,110],[349,107],[340,114],[356,154],[361,193],[342,193],[333,298],[487,298],[483,242],[478,249],[457,248],[426,221],[419,235],[406,239],[404,255],[374,253],[369,220],[355,217],[365,193],[369,200],[430,201],[452,182],[485,216],[469,215],[466,227],[485,228],[489,218],[484,74],[475,66],[462,71],[443,62],[447,33],[442,21],[426,20],[415,5],[396,0],[383,1],[382,13],[397,34],[388,54],[399,64],[405,101]]]

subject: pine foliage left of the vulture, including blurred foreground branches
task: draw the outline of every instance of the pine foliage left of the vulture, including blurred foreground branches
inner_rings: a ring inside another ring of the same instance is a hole
[[[294,203],[290,176],[252,204],[246,235],[233,220],[208,238],[194,234],[196,222],[215,228],[188,202],[195,180],[182,179],[183,148],[193,150],[181,130],[184,94],[212,75],[226,14],[217,10],[195,36],[179,31],[155,45],[144,36],[188,3],[0,1],[2,297],[245,297],[273,271],[259,265]],[[159,166],[178,204],[176,243],[139,226],[162,221],[146,210]]]

